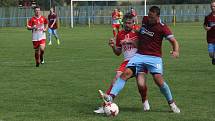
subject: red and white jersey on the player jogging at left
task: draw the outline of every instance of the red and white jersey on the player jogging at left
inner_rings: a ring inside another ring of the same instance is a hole
[[[45,24],[48,24],[47,19],[44,16],[36,17],[33,16],[28,21],[28,27],[36,27],[37,29],[32,30],[32,41],[40,41],[46,39],[46,34],[44,32]]]

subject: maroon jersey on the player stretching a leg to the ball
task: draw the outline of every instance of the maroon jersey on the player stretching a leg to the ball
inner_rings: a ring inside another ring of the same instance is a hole
[[[137,53],[161,57],[163,38],[173,37],[172,32],[167,25],[160,22],[150,25],[148,17],[144,17],[142,22]]]

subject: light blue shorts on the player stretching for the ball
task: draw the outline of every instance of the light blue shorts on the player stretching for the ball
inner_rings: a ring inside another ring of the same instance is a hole
[[[148,70],[152,74],[163,74],[163,62],[161,57],[136,53],[127,64],[127,67],[131,66],[136,68],[135,74],[142,72],[142,70]]]

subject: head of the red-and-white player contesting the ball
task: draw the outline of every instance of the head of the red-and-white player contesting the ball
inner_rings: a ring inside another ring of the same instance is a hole
[[[123,17],[123,23],[124,23],[124,30],[125,31],[131,31],[134,26],[134,17],[131,15],[131,13],[126,13]]]

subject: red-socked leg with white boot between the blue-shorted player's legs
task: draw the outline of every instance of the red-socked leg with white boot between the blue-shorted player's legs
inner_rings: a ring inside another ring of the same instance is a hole
[[[147,86],[146,86],[145,73],[144,72],[138,73],[136,80],[137,80],[138,90],[143,103],[143,110],[149,111],[150,105],[147,99]]]

